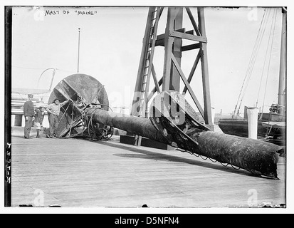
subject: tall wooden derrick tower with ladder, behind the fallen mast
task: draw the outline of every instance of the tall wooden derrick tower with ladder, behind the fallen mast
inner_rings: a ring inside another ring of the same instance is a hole
[[[167,26],[165,28],[165,32],[158,35],[157,28],[163,10],[164,7],[149,8],[140,64],[137,73],[135,93],[132,101],[131,115],[148,118],[148,103],[152,99],[154,93],[161,93],[162,91],[168,90],[176,90],[177,92],[180,92],[180,81],[182,79],[184,82],[184,90],[182,93],[185,94],[187,91],[190,93],[191,98],[196,104],[199,113],[204,118],[206,125],[213,125],[211,118],[204,8],[197,8],[197,24],[191,9],[188,7],[168,7]],[[186,11],[189,16],[191,25],[194,28],[193,30],[186,31],[186,28],[183,28],[184,11]],[[182,46],[182,39],[194,41],[195,43]],[[153,64],[154,50],[156,46],[164,46],[164,70],[162,77],[159,80],[157,80],[157,74]],[[199,52],[196,55],[194,65],[191,68],[189,76],[186,78],[181,69],[182,52],[193,49],[199,49]],[[194,76],[194,72],[199,61],[201,62],[204,107],[201,107],[199,99],[196,98],[193,88],[191,88],[189,84]],[[155,86],[152,90],[149,90],[151,76]],[[141,145],[141,137],[138,135],[135,136],[135,145]]]

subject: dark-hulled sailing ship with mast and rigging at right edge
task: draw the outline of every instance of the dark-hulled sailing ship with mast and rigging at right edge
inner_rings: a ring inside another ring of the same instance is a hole
[[[268,18],[269,11],[265,11],[264,18]],[[285,145],[285,113],[286,113],[286,88],[285,88],[285,76],[287,74],[287,9],[282,7],[282,28],[281,28],[281,41],[280,41],[280,71],[279,71],[279,79],[278,79],[278,100],[277,103],[272,103],[271,108],[269,109],[269,113],[258,113],[258,138],[262,140],[266,140],[268,142],[272,142],[278,145]],[[263,31],[265,26],[264,22],[261,21],[260,31]],[[272,24],[273,26],[273,24]],[[273,29],[274,30],[274,29]],[[261,36],[258,34],[258,37]],[[271,36],[273,37],[273,33],[270,34],[268,39],[268,43],[270,42]],[[272,39],[273,42],[273,39]],[[258,49],[257,49],[258,50]],[[253,50],[256,51],[256,50]],[[268,51],[266,51],[268,53]],[[257,56],[256,54],[254,56]],[[270,55],[271,56],[271,55]],[[270,58],[271,60],[271,58]],[[268,69],[271,66],[271,61],[269,61]],[[246,76],[249,73],[246,73]],[[249,77],[248,77],[249,78]],[[246,78],[245,78],[246,79]],[[243,85],[247,85],[244,79]],[[243,86],[241,88],[242,92]],[[229,135],[237,135],[241,137],[248,137],[248,118],[246,115],[246,107],[244,108],[244,118],[238,118],[239,110],[241,107],[241,103],[243,100],[243,95],[245,94],[245,90],[243,90],[243,94],[239,95],[237,105],[235,107],[233,116],[231,118],[220,118],[219,119],[219,128],[225,133]],[[258,92],[259,93],[259,92]],[[266,90],[264,95],[266,95]],[[241,98],[241,100],[240,100]],[[240,103],[239,103],[240,101]],[[257,107],[256,102],[256,107]],[[263,107],[264,107],[264,98],[263,98]],[[235,115],[236,114],[236,115]]]

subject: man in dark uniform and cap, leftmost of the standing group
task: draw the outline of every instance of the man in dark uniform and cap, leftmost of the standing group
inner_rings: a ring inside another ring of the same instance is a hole
[[[28,94],[28,100],[23,106],[23,115],[25,118],[24,124],[24,138],[31,139],[31,126],[33,125],[33,116],[35,115],[35,110],[33,108],[33,94]]]

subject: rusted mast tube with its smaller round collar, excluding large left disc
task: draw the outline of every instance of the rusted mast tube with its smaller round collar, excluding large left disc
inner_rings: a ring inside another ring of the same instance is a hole
[[[243,168],[254,175],[277,176],[282,147],[260,140],[214,133],[193,118],[193,109],[179,93],[163,92],[154,100],[150,120],[88,108],[94,123],[179,147],[221,163]]]

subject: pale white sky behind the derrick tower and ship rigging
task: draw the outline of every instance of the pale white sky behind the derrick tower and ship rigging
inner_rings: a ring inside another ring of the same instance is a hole
[[[235,108],[264,9],[248,7],[204,9],[208,38],[211,105],[216,108],[216,113],[219,113],[221,109],[223,113],[230,113]],[[38,86],[38,88],[48,89],[53,73],[51,70],[43,74],[40,84],[37,85],[38,78],[47,68],[61,70],[56,71],[53,88],[66,76],[76,73],[78,28],[81,28],[80,73],[93,76],[105,85],[112,106],[130,106],[148,8],[48,7],[41,8],[41,10],[56,10],[59,11],[59,14],[42,16],[42,11],[36,7],[14,8],[12,88],[37,88]],[[94,15],[77,15],[76,10],[90,10]],[[194,18],[197,19],[196,9],[191,10],[194,12]],[[69,13],[63,14],[63,11]],[[166,16],[167,9],[164,9],[157,34],[164,33]],[[256,104],[272,17],[273,12],[268,20],[243,105]],[[281,23],[281,12],[278,10],[265,105],[278,101]],[[192,29],[185,11],[184,27],[187,28],[187,31]],[[163,73],[163,51],[163,47],[155,49],[154,66],[157,78],[160,78]],[[182,70],[186,77],[189,76],[195,58],[196,51],[183,53]],[[201,101],[203,98],[200,69],[199,64],[191,86]],[[264,78],[266,78],[266,73],[267,68],[263,74]],[[263,81],[258,107],[263,103],[264,85]],[[192,103],[189,95],[187,95],[187,100]],[[265,111],[268,111],[267,107]]]

